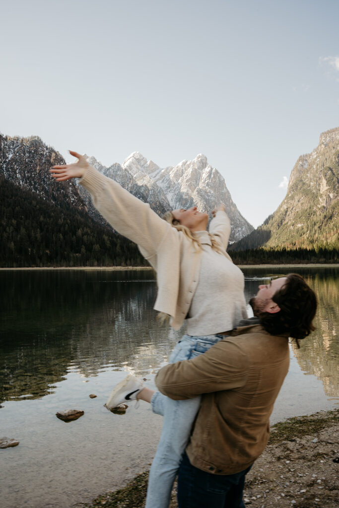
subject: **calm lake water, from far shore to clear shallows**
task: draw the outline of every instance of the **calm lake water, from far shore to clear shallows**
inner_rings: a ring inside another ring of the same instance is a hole
[[[271,423],[339,402],[338,268],[244,268],[246,301],[289,271],[317,293],[317,330],[290,346]],[[143,402],[122,416],[103,404],[127,372],[153,388],[183,333],[156,320],[153,272],[0,271],[0,285],[0,437],[20,441],[0,450],[2,506],[68,508],[149,469],[162,418]],[[58,420],[68,408],[85,414]]]

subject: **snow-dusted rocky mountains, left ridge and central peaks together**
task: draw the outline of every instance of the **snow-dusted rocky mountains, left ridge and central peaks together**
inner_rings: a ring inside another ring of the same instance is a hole
[[[170,209],[193,205],[211,215],[216,205],[225,203],[232,224],[231,241],[239,240],[253,230],[238,212],[224,178],[211,168],[204,155],[165,169],[147,161],[139,152],[132,153],[122,165],[114,163],[105,167],[94,157],[87,156],[87,160],[102,174],[116,180],[141,201],[149,203],[159,215]],[[60,208],[87,211],[91,218],[109,227],[83,187],[74,180],[60,183],[50,177],[50,167],[65,164],[65,160],[39,137],[0,134],[0,163],[0,174],[18,187],[30,190]]]

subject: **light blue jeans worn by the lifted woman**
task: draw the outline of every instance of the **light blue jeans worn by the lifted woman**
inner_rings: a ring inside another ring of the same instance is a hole
[[[190,360],[205,353],[224,335],[183,335],[169,363]],[[168,508],[175,475],[188,443],[201,397],[172,400],[160,392],[151,399],[152,411],[164,417],[158,449],[149,471],[145,508]]]

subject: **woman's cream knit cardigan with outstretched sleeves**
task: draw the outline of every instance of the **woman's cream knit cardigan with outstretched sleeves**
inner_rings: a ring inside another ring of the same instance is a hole
[[[117,182],[92,166],[80,179],[95,207],[121,235],[138,244],[139,250],[157,272],[158,295],[154,308],[171,316],[178,330],[189,311],[200,272],[200,254],[193,242],[153,212],[148,203],[135,198]],[[209,232],[225,256],[231,232],[230,220],[219,211]]]

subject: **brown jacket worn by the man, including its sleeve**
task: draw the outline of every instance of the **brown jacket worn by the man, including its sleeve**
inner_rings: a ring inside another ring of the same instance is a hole
[[[253,464],[268,441],[269,417],[288,367],[288,337],[252,325],[237,328],[198,358],[159,371],[157,387],[168,397],[204,394],[186,449],[192,465],[233,474]]]

